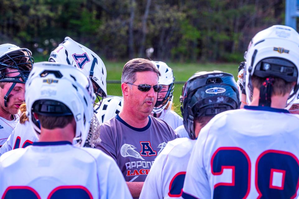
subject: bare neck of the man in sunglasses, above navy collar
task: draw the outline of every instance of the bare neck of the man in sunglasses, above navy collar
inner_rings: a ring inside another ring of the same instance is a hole
[[[149,122],[149,118],[148,118],[149,115],[142,114],[134,111],[133,109],[127,108],[125,107],[125,104],[118,115],[128,125],[133,126],[135,128],[143,128]]]

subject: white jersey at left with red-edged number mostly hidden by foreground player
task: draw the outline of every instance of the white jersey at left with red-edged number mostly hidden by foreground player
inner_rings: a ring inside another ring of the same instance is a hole
[[[26,121],[24,124],[18,122],[15,129],[12,131],[12,134],[9,135],[6,142],[0,148],[0,156],[7,151],[25,148],[37,141],[38,137],[29,121]]]

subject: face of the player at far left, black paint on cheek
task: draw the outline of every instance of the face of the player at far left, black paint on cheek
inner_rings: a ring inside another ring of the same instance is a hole
[[[12,71],[10,71],[12,72]],[[14,77],[19,73],[8,73],[6,76]],[[0,88],[0,111],[4,114],[17,114],[21,103],[25,101],[25,84],[17,83],[7,97],[7,107],[4,105],[4,96],[10,89],[13,83],[3,83],[3,88]]]

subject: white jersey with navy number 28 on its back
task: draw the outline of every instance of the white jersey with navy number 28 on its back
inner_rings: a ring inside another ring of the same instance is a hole
[[[245,106],[216,115],[199,133],[183,198],[294,198],[299,116]]]

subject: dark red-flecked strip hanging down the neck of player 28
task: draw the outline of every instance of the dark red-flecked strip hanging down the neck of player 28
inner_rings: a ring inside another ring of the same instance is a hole
[[[263,82],[259,91],[259,106],[270,107],[271,106],[271,94],[274,78],[268,77]]]

